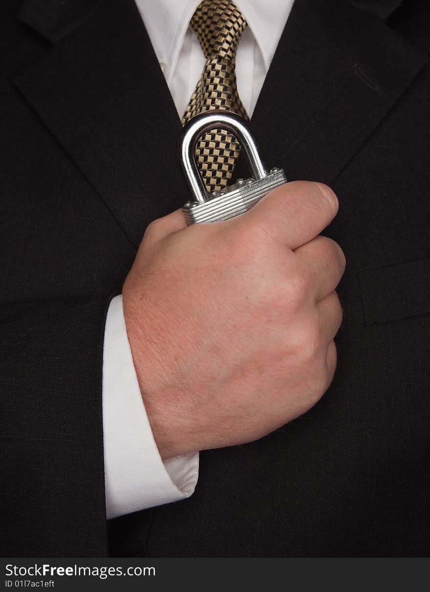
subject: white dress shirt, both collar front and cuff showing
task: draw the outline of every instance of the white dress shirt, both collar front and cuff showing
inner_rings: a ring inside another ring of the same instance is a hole
[[[250,117],[293,1],[235,0],[248,23],[238,45],[236,76]],[[136,4],[182,117],[205,65],[198,38],[189,27],[199,0],[136,0]],[[108,518],[193,493],[199,453],[161,460],[139,390],[121,295],[112,300],[106,317],[103,426]]]

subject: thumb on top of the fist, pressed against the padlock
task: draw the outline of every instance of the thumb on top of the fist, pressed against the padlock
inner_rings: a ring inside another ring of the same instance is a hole
[[[324,230],[337,211],[337,197],[327,185],[294,181],[270,191],[240,218],[241,223],[252,220],[263,226],[274,239],[296,249]]]

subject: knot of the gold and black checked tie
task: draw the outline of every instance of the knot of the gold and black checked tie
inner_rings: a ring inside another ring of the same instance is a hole
[[[234,62],[237,46],[247,22],[229,0],[203,0],[190,21],[206,60],[214,57]]]

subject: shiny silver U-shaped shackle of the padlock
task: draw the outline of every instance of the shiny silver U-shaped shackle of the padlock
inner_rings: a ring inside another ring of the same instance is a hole
[[[231,132],[238,140],[254,179],[262,179],[267,175],[266,166],[261,158],[260,150],[247,122],[231,111],[205,111],[187,121],[182,128],[182,134],[179,137],[178,143],[179,161],[185,173],[190,191],[195,197],[195,201],[199,202],[199,204],[208,201],[208,192],[206,191],[196,162],[196,144],[206,131],[216,128]]]

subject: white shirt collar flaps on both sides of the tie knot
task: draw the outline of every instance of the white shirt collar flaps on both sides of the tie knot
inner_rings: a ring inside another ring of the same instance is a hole
[[[159,62],[173,75],[177,57],[199,0],[135,0]],[[235,0],[263,56],[266,71],[294,0]]]

